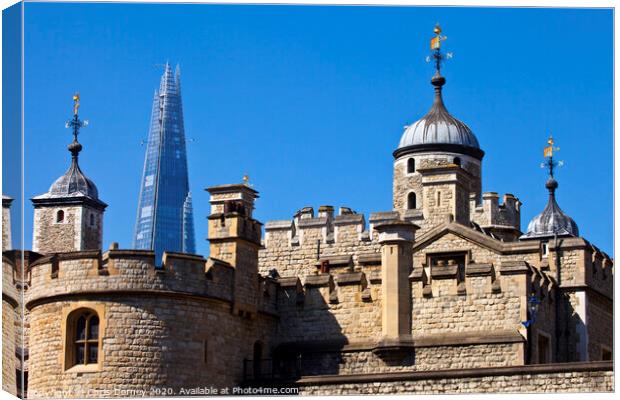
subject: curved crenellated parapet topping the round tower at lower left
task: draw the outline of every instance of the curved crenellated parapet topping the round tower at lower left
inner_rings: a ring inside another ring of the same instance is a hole
[[[49,297],[76,294],[144,294],[204,297],[232,302],[235,268],[201,255],[165,252],[161,266],[148,250],[80,251],[56,253],[32,263],[27,280],[32,290],[26,306]],[[256,279],[266,293],[275,294],[273,279]],[[260,296],[259,310],[274,312],[275,296]],[[273,302],[273,304],[270,304]]]

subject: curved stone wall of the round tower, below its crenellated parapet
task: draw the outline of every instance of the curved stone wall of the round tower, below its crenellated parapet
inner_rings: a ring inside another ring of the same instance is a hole
[[[103,360],[94,371],[63,366],[62,317],[81,307],[101,307],[106,321]],[[270,345],[274,326],[272,317],[239,318],[229,304],[204,298],[114,294],[41,304],[31,310],[30,360],[37,368],[30,373],[29,394],[108,397],[144,390],[147,396],[172,396],[182,388],[232,387],[243,381],[244,359],[252,358],[254,343]]]

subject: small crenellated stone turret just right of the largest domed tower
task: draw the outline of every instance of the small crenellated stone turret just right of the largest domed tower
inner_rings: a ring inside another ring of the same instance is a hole
[[[482,203],[472,193],[469,209],[472,222],[502,240],[516,240],[521,233],[521,202],[510,193],[504,195],[502,203],[496,192],[483,193]]]

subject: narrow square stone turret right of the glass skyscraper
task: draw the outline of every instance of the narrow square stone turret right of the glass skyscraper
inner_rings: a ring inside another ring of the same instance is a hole
[[[261,223],[252,218],[258,192],[247,182],[213,186],[209,215],[210,257],[234,268],[233,312],[253,316],[258,293]]]

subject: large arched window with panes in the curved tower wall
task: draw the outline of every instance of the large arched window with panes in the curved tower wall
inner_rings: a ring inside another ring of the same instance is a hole
[[[99,362],[99,316],[90,309],[80,309],[67,319],[68,367]]]

